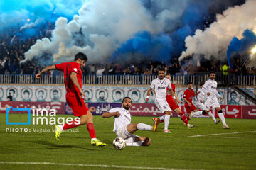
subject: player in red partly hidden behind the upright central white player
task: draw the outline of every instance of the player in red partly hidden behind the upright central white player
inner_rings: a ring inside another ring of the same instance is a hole
[[[166,74],[166,79],[169,79],[171,81],[171,74],[167,73]],[[188,129],[191,129],[193,128],[195,125],[190,125],[188,123],[188,120],[186,118],[186,115],[184,115],[184,113],[181,111],[181,108],[178,106],[177,103],[175,103],[174,101],[174,98],[177,98],[177,101],[178,103],[182,103],[183,104],[183,101],[180,101],[178,100],[178,96],[175,92],[175,85],[171,83],[171,88],[173,89],[174,91],[174,97],[171,96],[170,92],[169,92],[169,89],[167,88],[167,93],[166,93],[166,101],[167,103],[169,104],[171,110],[175,111],[176,113],[178,113],[178,115],[181,116],[181,120],[183,120],[183,122],[188,126]],[[162,115],[160,117],[160,122],[164,122],[164,117],[165,115]],[[153,118],[153,121],[156,120],[156,118]]]

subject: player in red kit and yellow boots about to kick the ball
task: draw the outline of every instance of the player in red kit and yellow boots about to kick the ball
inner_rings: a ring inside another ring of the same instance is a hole
[[[72,108],[75,116],[80,118],[80,123],[73,120],[65,125],[55,125],[55,137],[56,140],[60,139],[60,133],[63,130],[75,128],[79,125],[87,125],[87,130],[91,137],[91,144],[93,146],[105,147],[106,144],[97,140],[95,135],[95,128],[92,122],[92,113],[85,106],[84,100],[86,96],[82,91],[82,70],[81,67],[85,66],[87,62],[87,56],[82,52],[78,52],[75,55],[74,62],[65,62],[61,64],[55,64],[44,68],[41,72],[36,74],[36,79],[41,77],[41,74],[48,72],[51,69],[58,69],[64,72],[65,77],[65,89],[67,91],[66,101],[68,106]],[[82,98],[83,97],[83,98]]]

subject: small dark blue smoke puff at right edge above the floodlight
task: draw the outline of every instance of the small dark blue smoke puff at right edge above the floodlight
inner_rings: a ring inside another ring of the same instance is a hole
[[[227,51],[228,64],[230,64],[230,57],[235,54],[235,52],[244,55],[256,44],[256,35],[252,30],[245,30],[242,36],[243,38],[240,40],[236,37],[231,40]]]

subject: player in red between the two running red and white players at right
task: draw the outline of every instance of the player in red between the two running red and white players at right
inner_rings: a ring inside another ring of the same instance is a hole
[[[192,103],[193,96],[196,96],[195,91],[193,91],[192,89],[192,86],[193,86],[193,83],[188,82],[188,89],[186,89],[186,91],[184,91],[184,94],[183,94],[183,100],[185,101],[186,112],[188,113],[188,117],[187,117],[188,120],[191,112],[197,111],[196,106],[194,106]]]

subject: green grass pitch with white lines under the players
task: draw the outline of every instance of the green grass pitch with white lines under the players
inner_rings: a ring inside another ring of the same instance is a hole
[[[0,169],[256,169],[256,120],[226,119],[232,129],[225,130],[210,118],[193,118],[190,123],[196,127],[188,130],[180,118],[171,118],[171,134],[163,132],[164,123],[158,132],[134,133],[150,137],[149,147],[116,150],[113,118],[94,116],[97,138],[107,143],[98,148],[90,145],[86,125],[74,128],[78,132],[63,132],[57,142],[53,132],[33,132],[51,130],[53,125],[6,125],[5,116],[0,114]],[[9,115],[12,122],[27,118],[26,114]],[[153,124],[151,117],[136,116],[132,123]],[[6,128],[31,132],[6,132]]]

